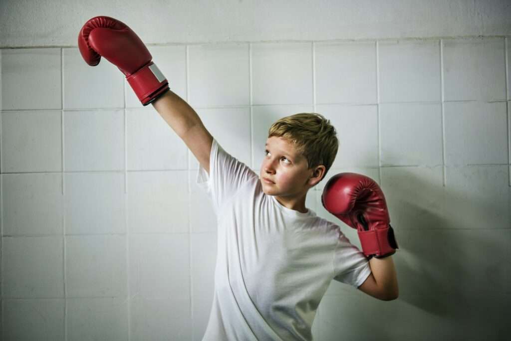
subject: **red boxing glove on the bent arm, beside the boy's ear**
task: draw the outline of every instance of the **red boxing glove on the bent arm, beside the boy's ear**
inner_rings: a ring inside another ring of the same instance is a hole
[[[398,249],[385,197],[373,179],[356,173],[337,174],[324,186],[321,203],[357,229],[362,252],[369,259],[391,256]]]

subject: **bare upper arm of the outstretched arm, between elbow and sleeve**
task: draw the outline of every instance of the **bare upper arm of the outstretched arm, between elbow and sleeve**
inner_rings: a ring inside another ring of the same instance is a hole
[[[202,122],[196,124],[185,132],[182,140],[195,155],[200,165],[210,174],[210,154],[213,145],[213,136],[207,131]]]

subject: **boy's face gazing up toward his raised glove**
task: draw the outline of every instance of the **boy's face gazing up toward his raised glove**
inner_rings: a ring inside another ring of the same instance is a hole
[[[266,194],[299,198],[312,187],[309,183],[312,174],[312,169],[307,168],[307,159],[297,153],[294,144],[282,137],[272,136],[266,140],[260,174]],[[273,183],[268,183],[265,178]]]

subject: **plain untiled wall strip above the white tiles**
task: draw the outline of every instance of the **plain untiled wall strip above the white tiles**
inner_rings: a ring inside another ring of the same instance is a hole
[[[3,0],[0,48],[76,46],[80,23],[97,15],[146,44],[511,33],[508,0]]]

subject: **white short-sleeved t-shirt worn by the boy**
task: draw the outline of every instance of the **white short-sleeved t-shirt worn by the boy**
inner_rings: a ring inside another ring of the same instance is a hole
[[[217,216],[217,263],[203,340],[312,340],[332,279],[360,286],[370,267],[338,225],[263,192],[259,176],[214,139],[210,175],[199,166]]]

